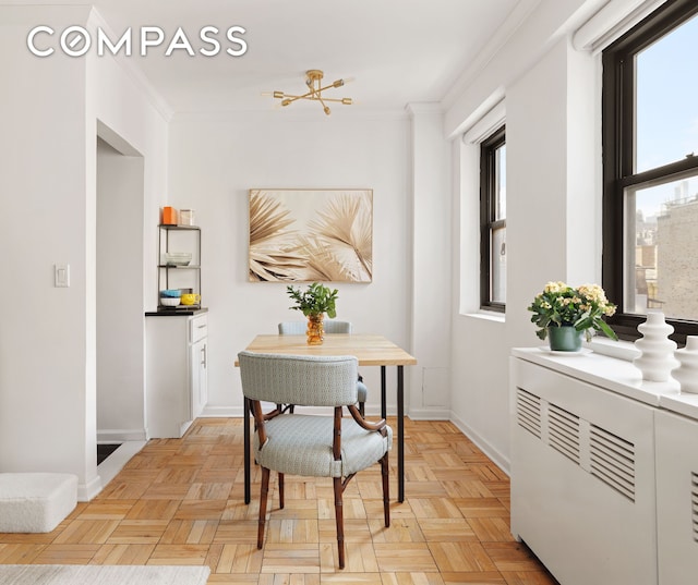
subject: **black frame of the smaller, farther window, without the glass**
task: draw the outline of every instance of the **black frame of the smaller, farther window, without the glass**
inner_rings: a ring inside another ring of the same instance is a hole
[[[480,143],[480,308],[505,313],[506,303],[492,301],[492,232],[506,229],[496,214],[496,151],[506,144],[506,124]],[[505,170],[506,171],[506,170]]]

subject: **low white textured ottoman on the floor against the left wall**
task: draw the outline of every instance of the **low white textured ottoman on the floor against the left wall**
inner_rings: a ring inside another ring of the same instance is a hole
[[[0,473],[0,533],[50,533],[76,504],[76,475]]]

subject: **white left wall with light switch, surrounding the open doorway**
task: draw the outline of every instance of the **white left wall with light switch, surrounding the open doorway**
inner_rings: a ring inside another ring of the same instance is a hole
[[[148,260],[156,256],[167,154],[165,119],[115,60],[60,52],[40,59],[26,49],[37,24],[60,31],[88,21],[92,26],[94,17],[85,7],[0,7],[0,192],[8,219],[0,261],[4,289],[17,291],[0,328],[0,470],[75,473],[82,499],[99,489],[97,119],[144,155],[143,215],[153,226],[152,236],[145,232],[153,242],[143,251]],[[56,263],[70,264],[70,288],[53,288]],[[152,290],[149,275],[141,294]]]

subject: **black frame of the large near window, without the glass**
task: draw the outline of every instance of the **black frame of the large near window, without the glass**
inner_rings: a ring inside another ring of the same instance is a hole
[[[603,254],[602,283],[616,305],[609,324],[621,339],[640,337],[637,326],[645,316],[625,312],[625,196],[627,187],[660,179],[678,179],[695,170],[698,156],[670,162],[639,173],[634,169],[635,148],[635,56],[698,14],[695,0],[669,0],[625,35],[602,56],[602,148],[603,148]],[[698,321],[670,319],[675,339],[698,334]]]

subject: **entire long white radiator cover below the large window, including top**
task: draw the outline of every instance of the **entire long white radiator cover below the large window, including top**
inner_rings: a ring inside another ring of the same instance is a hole
[[[510,369],[512,533],[563,585],[698,583],[698,394],[595,353]]]

